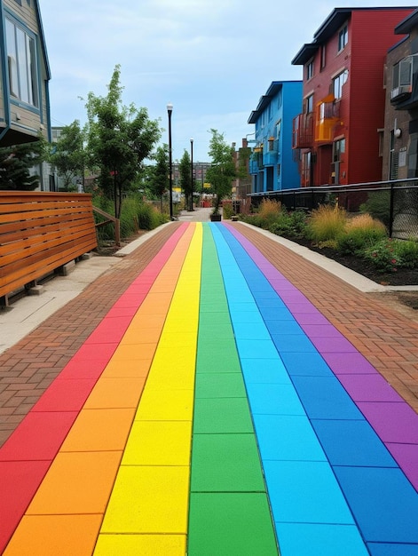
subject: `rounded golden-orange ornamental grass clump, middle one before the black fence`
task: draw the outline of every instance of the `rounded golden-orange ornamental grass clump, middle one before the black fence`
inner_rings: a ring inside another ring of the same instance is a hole
[[[308,234],[314,242],[337,240],[346,224],[345,210],[329,204],[319,205],[308,218]]]

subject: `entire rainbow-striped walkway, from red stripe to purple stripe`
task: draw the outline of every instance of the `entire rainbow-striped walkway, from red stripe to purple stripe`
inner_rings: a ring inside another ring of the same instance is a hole
[[[416,556],[418,415],[227,224],[183,224],[0,449],[6,556]]]

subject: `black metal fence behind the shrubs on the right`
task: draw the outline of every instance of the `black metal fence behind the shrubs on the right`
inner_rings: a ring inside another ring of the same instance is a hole
[[[349,186],[318,186],[248,195],[257,207],[263,199],[279,201],[288,210],[317,209],[335,204],[348,212],[365,211],[387,226],[390,237],[418,239],[418,178],[368,182]]]

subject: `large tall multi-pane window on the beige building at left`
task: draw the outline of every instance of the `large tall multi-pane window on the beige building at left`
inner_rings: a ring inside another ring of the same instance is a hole
[[[6,43],[10,94],[38,107],[35,37],[6,19]]]

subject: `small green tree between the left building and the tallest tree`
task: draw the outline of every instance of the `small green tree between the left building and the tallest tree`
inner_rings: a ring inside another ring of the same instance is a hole
[[[83,178],[86,163],[86,152],[83,148],[85,131],[80,127],[80,122],[66,125],[62,128],[59,141],[52,146],[48,162],[63,179],[64,187],[74,184],[77,178]]]

